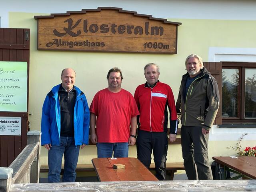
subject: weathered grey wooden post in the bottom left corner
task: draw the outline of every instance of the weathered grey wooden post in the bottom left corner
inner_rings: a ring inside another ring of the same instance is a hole
[[[12,185],[12,168],[0,167],[0,191],[9,192]]]

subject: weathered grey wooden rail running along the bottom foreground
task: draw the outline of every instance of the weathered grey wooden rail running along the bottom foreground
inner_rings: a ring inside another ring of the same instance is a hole
[[[10,192],[243,192],[256,180],[125,181],[12,184]]]

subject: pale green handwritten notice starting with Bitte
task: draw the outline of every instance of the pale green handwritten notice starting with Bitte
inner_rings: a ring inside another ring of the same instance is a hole
[[[27,112],[27,62],[0,61],[0,111]]]

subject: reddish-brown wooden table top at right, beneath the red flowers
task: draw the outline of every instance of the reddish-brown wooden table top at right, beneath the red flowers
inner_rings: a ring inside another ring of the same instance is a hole
[[[242,175],[240,176],[244,175],[256,179],[256,157],[212,157],[212,159],[223,165],[224,168],[231,168],[232,170],[241,173]]]

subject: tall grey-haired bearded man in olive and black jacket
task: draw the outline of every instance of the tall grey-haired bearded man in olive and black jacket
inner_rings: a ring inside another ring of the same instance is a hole
[[[181,146],[189,180],[210,180],[209,132],[216,117],[220,95],[215,78],[204,68],[202,58],[192,54],[185,61],[176,111],[181,120]]]

